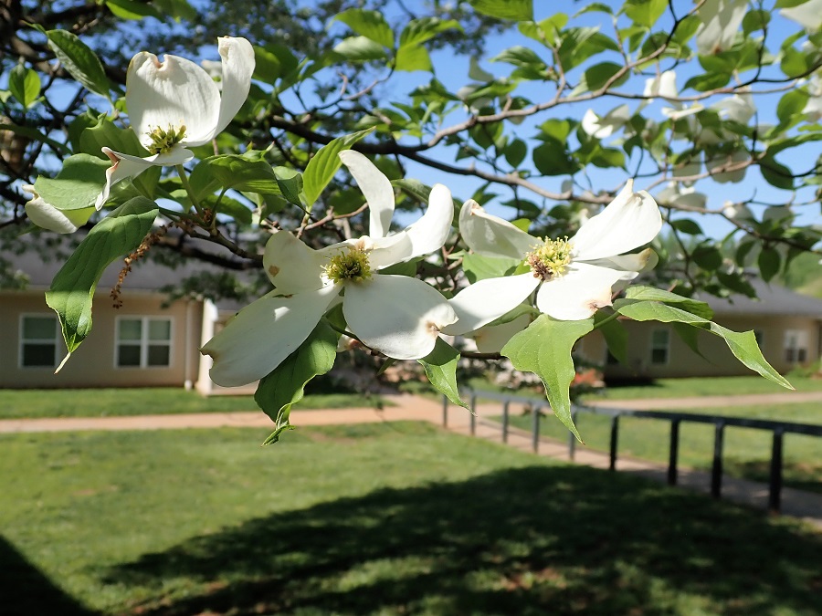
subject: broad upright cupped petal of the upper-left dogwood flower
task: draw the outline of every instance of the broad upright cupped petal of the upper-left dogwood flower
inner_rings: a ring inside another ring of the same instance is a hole
[[[195,62],[166,55],[161,63],[142,51],[129,64],[126,107],[132,130],[146,147],[152,142],[149,133],[158,127],[185,127],[184,143],[205,142],[217,126],[220,91]]]

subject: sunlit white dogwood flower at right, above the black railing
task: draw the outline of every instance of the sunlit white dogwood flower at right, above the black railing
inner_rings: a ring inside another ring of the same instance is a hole
[[[611,287],[631,280],[648,264],[653,251],[625,255],[650,242],[662,228],[653,197],[634,193],[632,182],[570,239],[540,239],[487,214],[468,201],[459,213],[459,233],[479,255],[524,259],[530,271],[479,280],[449,302],[458,322],[443,329],[461,334],[509,312],[534,290],[536,306],[553,318],[578,320],[611,305]]]

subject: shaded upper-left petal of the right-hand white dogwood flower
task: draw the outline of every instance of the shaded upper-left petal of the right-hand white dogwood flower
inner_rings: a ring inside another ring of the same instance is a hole
[[[543,243],[507,220],[486,214],[473,199],[459,210],[459,233],[469,248],[480,255],[522,259],[534,246]]]

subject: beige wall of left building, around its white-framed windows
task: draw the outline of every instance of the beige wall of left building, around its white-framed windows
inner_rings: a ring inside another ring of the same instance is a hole
[[[58,374],[48,368],[20,367],[20,323],[23,314],[53,315],[42,291],[0,293],[0,388],[147,387],[178,386],[197,379],[202,329],[202,302],[179,300],[162,308],[163,296],[125,292],[123,306],[112,308],[111,298],[94,298],[94,326]],[[186,313],[190,318],[186,322]],[[115,319],[163,317],[172,321],[171,359],[168,367],[117,368],[115,366]],[[186,329],[189,329],[188,331]],[[186,339],[189,345],[186,351]],[[61,342],[62,344],[62,342]],[[58,350],[58,360],[65,346]]]

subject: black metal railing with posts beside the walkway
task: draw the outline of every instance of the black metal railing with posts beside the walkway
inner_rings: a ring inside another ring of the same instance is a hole
[[[471,435],[477,433],[477,399],[484,398],[496,402],[502,402],[501,437],[502,442],[508,442],[510,432],[510,408],[511,402],[525,404],[532,411],[532,450],[539,452],[540,444],[540,418],[543,414],[548,414],[543,409],[549,409],[547,400],[537,400],[525,396],[516,396],[507,393],[497,392],[477,392],[471,390],[466,392],[469,398],[469,408],[471,410],[469,431]],[[448,398],[443,396],[442,423],[448,427]],[[768,480],[768,508],[773,512],[779,512],[782,483],[783,483],[783,460],[785,451],[785,434],[805,434],[807,436],[822,437],[822,425],[812,423],[790,423],[775,422],[762,419],[745,419],[743,417],[726,417],[723,415],[704,415],[690,412],[664,412],[664,411],[632,411],[629,409],[608,409],[603,407],[584,407],[574,405],[571,413],[574,423],[581,413],[606,415],[611,418],[610,444],[608,447],[609,463],[611,471],[617,470],[617,450],[619,446],[619,418],[638,417],[642,419],[657,419],[670,423],[669,456],[668,456],[668,483],[677,485],[677,462],[680,450],[680,424],[681,423],[709,423],[713,424],[713,461],[711,463],[711,496],[719,498],[722,496],[722,450],[724,447],[725,428],[729,426],[740,428],[753,428],[754,430],[764,430],[772,433],[771,462]],[[553,413],[552,413],[553,414]],[[572,433],[568,433],[568,457],[573,460],[576,451],[576,439]]]

